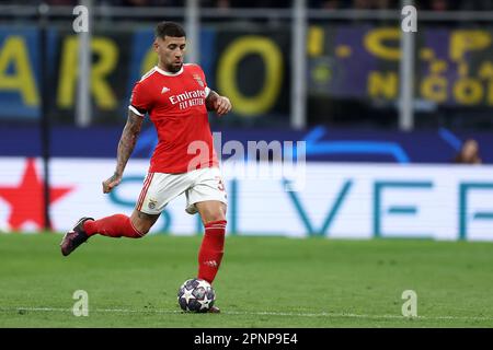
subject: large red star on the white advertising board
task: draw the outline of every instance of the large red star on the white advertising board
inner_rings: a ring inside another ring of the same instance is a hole
[[[10,207],[8,223],[20,230],[25,223],[44,226],[44,182],[36,172],[34,159],[28,159],[20,183],[16,186],[0,186],[0,200]],[[73,189],[71,186],[49,187],[49,203],[58,201]]]

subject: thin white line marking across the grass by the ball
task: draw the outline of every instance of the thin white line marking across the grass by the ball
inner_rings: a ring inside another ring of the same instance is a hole
[[[0,307],[0,313],[7,312],[67,312],[71,313],[71,308],[62,307]],[[93,313],[121,313],[121,314],[181,314],[182,311],[179,310],[130,310],[130,308],[94,308],[91,310]],[[416,317],[404,317],[401,315],[365,315],[365,314],[353,314],[353,313],[285,313],[285,312],[221,312],[222,315],[249,315],[249,316],[298,316],[298,317],[347,317],[347,318],[375,318],[375,319],[416,319],[416,320],[492,320],[493,317],[486,316],[416,316]]]

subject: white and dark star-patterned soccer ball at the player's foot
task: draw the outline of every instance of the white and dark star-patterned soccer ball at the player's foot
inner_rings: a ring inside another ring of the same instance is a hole
[[[198,278],[183,282],[177,292],[180,307],[185,312],[206,313],[216,301],[209,282]]]

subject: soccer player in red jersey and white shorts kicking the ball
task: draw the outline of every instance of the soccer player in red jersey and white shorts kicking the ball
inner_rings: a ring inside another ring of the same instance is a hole
[[[158,66],[134,86],[128,119],[118,143],[116,170],[103,182],[104,194],[121,183],[148,114],[159,142],[134,212],[130,217],[114,214],[100,220],[81,218],[60,243],[64,256],[94,234],[145,236],[165,206],[184,192],[185,211],[198,212],[205,226],[197,277],[213,283],[223,255],[227,196],[207,112],[222,116],[231,109],[231,103],[207,86],[199,66],[183,63],[185,47],[186,36],[180,25],[172,22],[157,25],[153,48]],[[219,312],[217,307],[210,311]]]

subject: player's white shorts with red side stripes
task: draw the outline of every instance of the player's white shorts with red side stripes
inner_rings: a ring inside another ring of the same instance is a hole
[[[136,209],[159,214],[174,198],[185,192],[186,208],[195,214],[195,203],[218,200],[227,205],[227,195],[218,167],[204,167],[183,174],[148,173]]]

